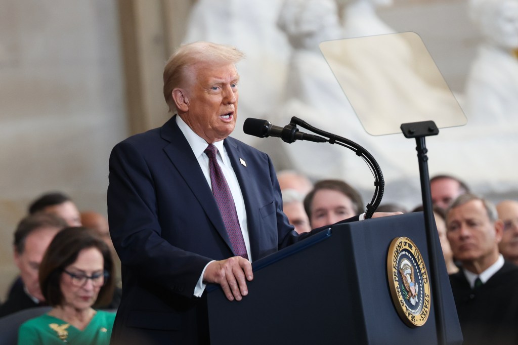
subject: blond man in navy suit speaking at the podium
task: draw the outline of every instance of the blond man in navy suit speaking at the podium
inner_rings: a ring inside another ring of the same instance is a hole
[[[123,295],[112,343],[207,343],[205,284],[241,300],[252,260],[308,236],[282,212],[269,157],[228,137],[242,57],[210,42],[180,47],[164,69],[177,115],[113,148],[108,216]]]

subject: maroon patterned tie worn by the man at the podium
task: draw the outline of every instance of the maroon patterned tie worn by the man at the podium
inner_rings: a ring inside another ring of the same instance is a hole
[[[234,204],[234,198],[228,184],[226,183],[223,171],[221,171],[220,165],[216,158],[218,149],[209,144],[205,149],[205,154],[209,157],[209,169],[210,169],[210,183],[212,184],[212,194],[220,209],[223,223],[228,234],[228,238],[232,243],[234,253],[244,258],[248,258],[247,247],[244,246],[243,234],[241,233],[241,226],[239,226],[239,220],[237,218],[236,204]]]

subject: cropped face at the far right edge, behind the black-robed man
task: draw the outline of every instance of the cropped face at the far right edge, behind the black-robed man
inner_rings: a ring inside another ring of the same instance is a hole
[[[503,235],[498,249],[507,260],[518,264],[518,202],[506,200],[498,204],[496,209],[498,218],[503,222]]]

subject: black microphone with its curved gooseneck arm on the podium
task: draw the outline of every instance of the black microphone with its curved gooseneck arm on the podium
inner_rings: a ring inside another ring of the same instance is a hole
[[[328,139],[315,136],[312,134],[299,132],[297,125]],[[290,124],[285,125],[284,127],[274,126],[266,120],[248,118],[244,121],[243,131],[246,134],[254,135],[260,138],[268,136],[280,137],[283,141],[287,143],[292,143],[296,140],[329,142],[331,144],[336,143],[340,146],[346,147],[354,151],[354,153],[357,156],[362,157],[362,159],[367,163],[372,175],[375,178],[375,192],[372,196],[371,202],[366,206],[367,212],[365,213],[365,219],[371,218],[372,214],[374,214],[374,212],[380,205],[381,198],[383,197],[383,191],[385,189],[385,181],[383,180],[381,168],[378,165],[378,162],[376,162],[376,160],[374,159],[374,157],[365,148],[358,145],[356,142],[332,133],[322,131],[319,128],[316,128],[307,123],[306,121],[301,120],[297,117],[292,117]]]

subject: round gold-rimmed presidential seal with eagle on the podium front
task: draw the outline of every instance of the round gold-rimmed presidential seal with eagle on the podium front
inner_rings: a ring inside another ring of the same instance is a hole
[[[423,257],[407,237],[392,240],[387,275],[397,313],[410,327],[422,326],[430,312],[430,283]]]

